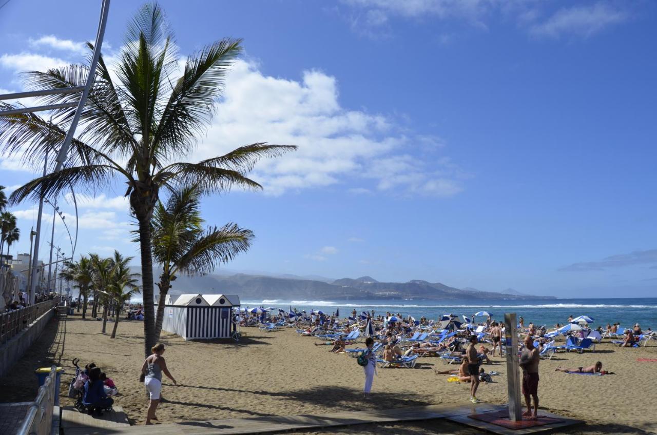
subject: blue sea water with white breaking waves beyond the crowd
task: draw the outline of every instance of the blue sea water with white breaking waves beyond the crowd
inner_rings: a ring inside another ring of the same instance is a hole
[[[531,301],[488,300],[478,304],[472,301],[455,300],[440,304],[435,300],[394,300],[394,301],[323,301],[323,300],[243,300],[242,306],[265,306],[282,308],[286,311],[292,306],[297,310],[321,309],[325,313],[333,313],[340,309],[340,317],[350,315],[355,309],[372,311],[374,315],[385,315],[386,311],[401,314],[403,317],[412,315],[419,319],[423,315],[429,319],[437,319],[443,314],[453,313],[470,317],[477,311],[489,311],[493,319],[504,319],[504,313],[522,315],[525,325],[530,322],[536,325],[554,326],[566,323],[568,316],[588,315],[595,319],[594,326],[605,327],[607,323],[619,322],[622,327],[640,323],[642,329],[657,328],[657,298],[604,298],[604,299],[556,299],[541,300],[532,304]],[[483,319],[482,319],[483,321]]]

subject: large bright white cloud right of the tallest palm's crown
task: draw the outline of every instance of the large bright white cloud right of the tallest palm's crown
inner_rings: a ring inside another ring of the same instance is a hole
[[[282,158],[261,160],[253,174],[265,193],[280,195],[288,189],[334,185],[348,178],[356,183],[385,178],[388,174],[374,171],[371,162],[394,160],[401,150],[419,143],[423,149],[439,148],[434,137],[402,135],[398,130],[386,116],[340,106],[338,82],[323,72],[306,71],[301,81],[285,80],[265,76],[256,64],[239,60],[227,78],[217,116],[194,158],[209,158],[260,141],[298,145],[296,152]],[[437,167],[412,164],[408,168],[434,172],[441,166],[439,159],[434,161]],[[429,181],[432,175],[425,173],[421,178]],[[404,191],[413,186],[398,179],[394,187]],[[367,188],[351,189],[362,193]]]

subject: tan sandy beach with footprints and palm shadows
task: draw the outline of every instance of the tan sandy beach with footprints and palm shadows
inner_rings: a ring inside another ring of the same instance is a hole
[[[116,404],[127,412],[131,423],[143,424],[147,400],[139,383],[143,362],[143,324],[121,321],[118,336],[101,333],[102,323],[70,316],[66,323],[53,321],[30,351],[0,378],[0,401],[33,400],[36,391],[34,368],[55,361],[66,367],[62,390],[74,369],[70,360],[95,362],[114,379],[120,390]],[[108,323],[108,331],[111,331]],[[185,342],[163,333],[164,354],[178,386],[164,380],[166,403],[158,409],[162,423],[226,419],[265,415],[296,415],[357,411],[381,407],[403,407],[430,403],[467,403],[469,384],[447,382],[434,368],[448,366],[436,357],[422,357],[415,369],[379,369],[374,378],[371,401],[361,400],[363,371],[355,359],[331,354],[330,346],[314,346],[316,338],[298,336],[292,329],[261,332],[244,328],[242,342]],[[582,419],[586,428],[568,434],[657,433],[657,363],[637,358],[657,358],[657,346],[640,349],[599,344],[595,353],[560,352],[542,360],[539,397],[541,409]],[[558,366],[578,367],[600,360],[614,375],[587,377],[555,372]],[[489,403],[505,403],[507,380],[504,360],[497,357],[487,371],[501,373],[495,383],[482,384],[478,397]],[[66,391],[62,391],[66,394]],[[72,400],[62,396],[62,404]],[[441,422],[411,425],[365,425],[338,428],[313,434],[340,433],[459,433],[472,432],[462,426]]]

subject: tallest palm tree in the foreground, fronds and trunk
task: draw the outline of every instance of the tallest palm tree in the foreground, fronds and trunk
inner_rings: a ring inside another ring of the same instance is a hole
[[[241,40],[225,38],[204,46],[187,58],[175,79],[179,56],[172,37],[156,3],[141,7],[127,28],[115,71],[118,81],[112,78],[104,58],[99,60],[81,114],[81,132],[72,142],[66,165],[60,172],[19,187],[9,198],[10,204],[28,197],[37,199],[41,194],[52,198],[71,186],[96,192],[117,178],[127,184],[125,196],[139,223],[146,355],[156,340],[150,220],[160,189],[171,191],[179,184],[197,185],[203,193],[223,192],[232,186],[261,189],[246,177],[256,162],[263,156],[296,149],[254,143],[201,162],[181,162],[212,119],[225,76],[241,52]],[[30,72],[25,78],[32,89],[72,87],[83,84],[87,70],[87,66],[71,65]],[[68,103],[77,98],[59,94],[43,97],[43,101]],[[0,109],[13,107],[0,104]],[[0,116],[2,150],[20,155],[26,164],[43,162],[47,150],[57,150],[72,117],[72,109],[62,109],[56,124],[35,114]]]

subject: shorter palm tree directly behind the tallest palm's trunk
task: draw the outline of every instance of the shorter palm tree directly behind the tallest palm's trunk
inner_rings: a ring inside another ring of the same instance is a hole
[[[203,229],[200,216],[200,191],[183,187],[173,193],[166,206],[158,202],[152,221],[153,258],[160,267],[160,298],[155,322],[159,340],[164,316],[164,302],[178,273],[204,275],[219,263],[232,260],[248,250],[253,232],[235,223]]]

